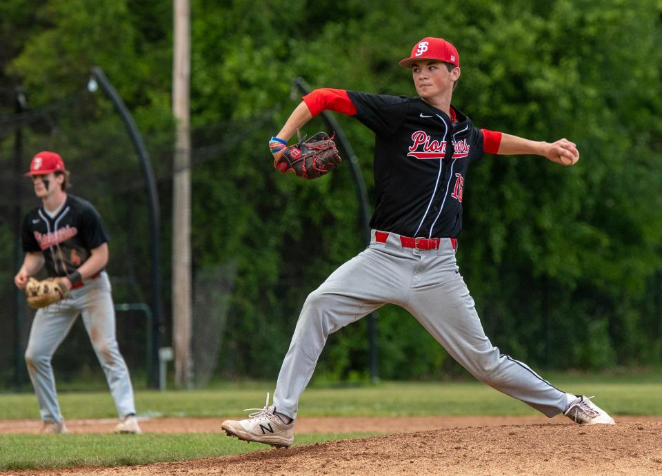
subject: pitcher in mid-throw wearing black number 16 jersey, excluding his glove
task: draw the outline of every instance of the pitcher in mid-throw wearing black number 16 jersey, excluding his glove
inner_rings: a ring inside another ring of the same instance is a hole
[[[324,110],[354,116],[375,134],[372,241],[345,262],[303,304],[279,373],[274,402],[247,420],[223,422],[228,435],[289,446],[299,398],[328,335],[383,304],[398,304],[472,375],[548,417],[581,424],[614,420],[587,397],[565,393],[485,336],[455,260],[468,166],[483,152],[536,154],[563,165],[579,159],[574,143],[534,142],[474,127],[451,105],[460,77],[456,48],[439,38],[419,41],[399,63],[410,68],[418,97],[347,90],[304,96],[270,141],[274,165],[287,140]]]

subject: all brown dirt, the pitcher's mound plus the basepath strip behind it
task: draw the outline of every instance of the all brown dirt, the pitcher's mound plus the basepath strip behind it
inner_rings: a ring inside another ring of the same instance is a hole
[[[158,419],[143,431],[216,431],[216,419]],[[304,418],[301,433],[385,431],[185,462],[31,471],[40,475],[660,475],[662,417],[617,417],[579,426],[563,417]],[[23,428],[27,428],[27,423]],[[0,422],[8,433],[10,422]],[[13,422],[15,433],[21,422]],[[106,433],[112,422],[68,422],[71,432]],[[432,428],[430,428],[432,427]],[[84,428],[84,429],[83,429]],[[32,433],[32,431],[29,431]],[[254,444],[254,443],[252,443]],[[28,474],[16,472],[14,474]]]

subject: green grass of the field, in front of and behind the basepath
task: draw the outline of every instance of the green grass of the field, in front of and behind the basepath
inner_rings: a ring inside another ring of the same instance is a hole
[[[546,375],[565,391],[596,395],[596,402],[615,415],[662,415],[662,374]],[[205,391],[137,391],[139,415],[150,417],[241,416],[243,408],[261,407],[270,385],[261,382],[217,384]],[[114,417],[107,391],[63,392],[68,419]],[[382,382],[366,386],[313,386],[299,407],[307,416],[534,415],[525,404],[479,382]],[[0,395],[0,420],[38,420],[32,393]],[[302,435],[296,444],[352,435]],[[81,465],[148,464],[257,451],[225,435],[0,435],[0,470],[61,468]]]

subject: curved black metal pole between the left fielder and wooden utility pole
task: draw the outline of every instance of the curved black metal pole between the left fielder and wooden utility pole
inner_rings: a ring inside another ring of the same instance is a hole
[[[138,127],[129,112],[126,104],[117,90],[113,87],[112,83],[103,73],[99,66],[94,66],[90,71],[91,78],[101,85],[101,89],[106,93],[106,96],[112,101],[112,104],[121,116],[126,130],[131,138],[131,141],[138,154],[141,171],[146,180],[147,190],[149,194],[149,209],[150,209],[150,238],[152,241],[151,247],[151,271],[152,271],[152,349],[151,355],[151,369],[150,369],[150,386],[159,388],[159,346],[161,344],[161,335],[163,335],[163,313],[161,306],[161,263],[159,257],[161,256],[161,242],[160,235],[160,220],[159,220],[159,193],[157,191],[156,180],[154,179],[154,169],[145,147],[143,138],[138,130]],[[91,86],[91,87],[90,87]],[[92,82],[88,83],[90,92],[94,92]]]

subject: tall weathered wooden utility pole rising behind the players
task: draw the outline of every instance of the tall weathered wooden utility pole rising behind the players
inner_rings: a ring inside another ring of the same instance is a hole
[[[172,177],[172,340],[174,380],[179,389],[192,386],[191,360],[191,33],[189,0],[174,0],[172,112],[177,143]]]

